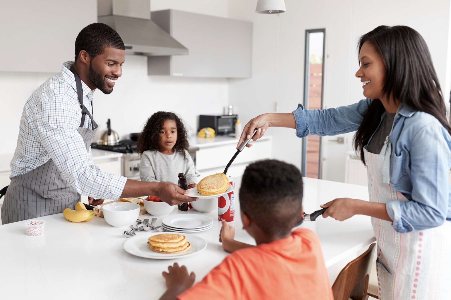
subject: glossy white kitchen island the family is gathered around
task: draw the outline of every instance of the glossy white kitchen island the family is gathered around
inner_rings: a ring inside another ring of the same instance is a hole
[[[304,179],[307,213],[336,197],[368,200],[368,190],[359,185]],[[238,203],[235,209],[236,239],[254,243],[241,229]],[[202,214],[175,208],[172,214],[177,213]],[[126,228],[112,227],[103,218],[72,223],[63,214],[42,217],[39,219],[46,220],[46,228],[44,235],[38,237],[25,235],[24,221],[1,225],[0,299],[158,299],[166,290],[161,272],[168,265],[175,262],[186,265],[189,272],[196,273],[198,282],[228,255],[218,241],[221,224],[216,221],[217,211],[206,215],[215,220],[213,227],[193,234],[204,238],[207,248],[197,255],[176,260],[145,259],[125,252],[126,238],[121,233]],[[140,216],[145,218],[152,216]],[[157,225],[161,219],[158,218]],[[352,259],[375,241],[370,218],[363,215],[343,222],[318,217],[301,227],[311,228],[320,237],[329,270],[346,258]]]

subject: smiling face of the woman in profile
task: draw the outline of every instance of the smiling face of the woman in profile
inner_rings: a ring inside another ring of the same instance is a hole
[[[360,68],[355,76],[363,83],[364,96],[370,99],[381,99],[385,78],[385,64],[373,44],[364,42],[359,53]]]

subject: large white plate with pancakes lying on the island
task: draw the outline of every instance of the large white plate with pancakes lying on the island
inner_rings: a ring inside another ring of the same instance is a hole
[[[186,242],[188,243],[188,246],[184,246],[181,245],[179,246],[178,244],[176,245],[177,247],[180,247],[180,249],[184,248],[188,248],[188,250],[184,251],[184,249],[182,249],[181,253],[163,253],[163,252],[156,252],[155,250],[151,250],[151,246],[149,246],[148,242],[149,242],[149,238],[153,237],[155,235],[164,235],[167,233],[149,233],[149,234],[141,234],[138,235],[136,237],[132,237],[129,238],[125,243],[124,243],[124,250],[129,252],[130,254],[136,255],[136,256],[140,256],[140,257],[144,257],[144,258],[152,258],[155,260],[170,260],[170,259],[175,259],[175,258],[179,258],[179,257],[184,257],[184,256],[190,256],[190,255],[194,255],[198,252],[203,251],[205,248],[207,248],[207,242],[202,238],[202,237],[198,237],[192,234],[188,234],[188,233],[174,233],[174,235],[183,235],[186,239],[186,241],[181,240],[180,239],[175,239],[174,241],[171,240],[167,240],[167,244],[172,244],[169,245],[168,247],[165,247],[164,245],[166,244],[166,242],[161,242],[161,241],[156,241],[156,246],[160,246],[160,247],[156,247],[155,249],[174,249],[174,251],[178,250],[174,247],[170,247],[175,245],[176,243],[184,243],[184,245],[186,245]],[[164,251],[164,250],[163,250]],[[168,250],[171,251],[171,250]],[[178,251],[180,252],[180,251]]]

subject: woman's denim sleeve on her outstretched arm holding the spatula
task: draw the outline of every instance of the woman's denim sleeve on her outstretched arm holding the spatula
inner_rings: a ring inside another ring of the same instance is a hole
[[[326,136],[344,134],[359,128],[372,99],[337,108],[305,109],[302,104],[293,111],[296,135],[304,138],[309,134]]]

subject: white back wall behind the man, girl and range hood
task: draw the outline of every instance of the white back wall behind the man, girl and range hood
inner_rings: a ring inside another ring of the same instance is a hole
[[[152,0],[152,10],[180,9],[220,17],[227,16],[227,0]],[[49,29],[50,30],[50,29]],[[43,30],[44,31],[44,30]],[[75,37],[64,40],[64,47],[74,47]],[[66,45],[70,44],[70,45]],[[61,64],[73,60],[73,51]],[[20,57],[20,59],[29,59]],[[96,91],[94,118],[99,124],[96,139],[111,119],[112,129],[121,138],[141,131],[147,118],[158,110],[179,113],[188,127],[197,130],[199,114],[222,114],[227,105],[226,79],[147,76],[147,57],[126,55],[123,75],[109,95]],[[23,105],[39,85],[54,73],[0,72],[0,154],[16,147]]]

